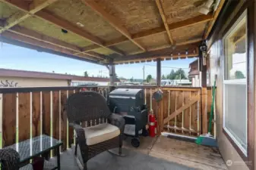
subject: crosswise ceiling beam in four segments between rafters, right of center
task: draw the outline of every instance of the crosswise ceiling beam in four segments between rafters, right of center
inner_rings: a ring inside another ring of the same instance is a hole
[[[186,27],[186,26],[193,26],[195,24],[198,24],[198,23],[205,23],[209,20],[211,20],[213,17],[211,14],[208,14],[208,15],[199,15],[198,17],[192,17],[192,18],[189,18],[187,20],[182,20],[182,21],[179,21],[177,23],[171,23],[169,24],[169,29],[170,30],[173,30],[173,29],[180,29],[180,28],[183,28],[183,27]],[[166,29],[165,27],[158,27],[158,28],[155,28],[155,29],[150,29],[150,30],[146,30],[146,31],[143,31],[143,32],[138,32],[134,35],[132,35],[133,39],[141,39],[141,38],[144,38],[144,37],[147,37],[147,36],[153,36],[153,35],[156,35],[156,34],[159,34],[159,33],[163,33],[163,32],[166,32]],[[106,45],[106,47],[109,47],[109,46],[112,46],[112,45],[118,45],[120,43],[123,43],[123,42],[128,42],[129,40],[126,39],[124,36],[119,38],[119,39],[114,39],[112,41],[109,41],[109,42],[106,42],[104,45]],[[101,48],[100,46],[97,46],[97,45],[89,45],[85,48],[82,48],[82,51],[92,51],[92,50],[95,50],[97,48]],[[150,49],[148,49],[150,51]]]

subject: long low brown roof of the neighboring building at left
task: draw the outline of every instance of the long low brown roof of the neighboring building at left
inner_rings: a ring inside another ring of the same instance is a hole
[[[41,78],[41,79],[68,79],[68,80],[93,81],[93,82],[109,82],[109,78],[102,78],[102,77],[72,76],[72,75],[67,75],[67,74],[33,72],[33,71],[24,71],[24,70],[9,70],[9,69],[0,69],[0,76],[23,77],[23,78]]]

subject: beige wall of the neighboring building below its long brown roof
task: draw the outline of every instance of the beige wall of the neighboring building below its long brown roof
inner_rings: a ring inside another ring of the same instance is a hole
[[[14,87],[68,86],[68,80],[0,76],[0,88],[5,85],[10,87],[10,84]]]

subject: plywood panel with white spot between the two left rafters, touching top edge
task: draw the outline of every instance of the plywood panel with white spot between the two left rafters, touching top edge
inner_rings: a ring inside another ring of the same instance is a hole
[[[65,18],[69,23],[98,37],[103,42],[109,42],[122,36],[95,11],[84,5],[81,0],[58,0],[46,10],[57,17]]]

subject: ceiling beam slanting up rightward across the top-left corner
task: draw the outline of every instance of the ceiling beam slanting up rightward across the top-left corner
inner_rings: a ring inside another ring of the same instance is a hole
[[[9,2],[8,0],[1,0],[2,2]],[[9,17],[3,26],[2,29],[0,29],[0,33],[5,31],[6,29],[11,28],[12,26],[17,25],[18,23],[21,23],[23,20],[26,20],[28,17],[31,17],[36,12],[42,10],[43,8],[46,8],[47,6],[51,5],[52,3],[56,2],[57,0],[34,0],[28,7],[27,12],[24,14],[23,11],[17,11],[17,13],[12,14],[11,17]],[[11,2],[9,2],[11,3]],[[23,4],[24,2],[18,2],[20,4]]]

